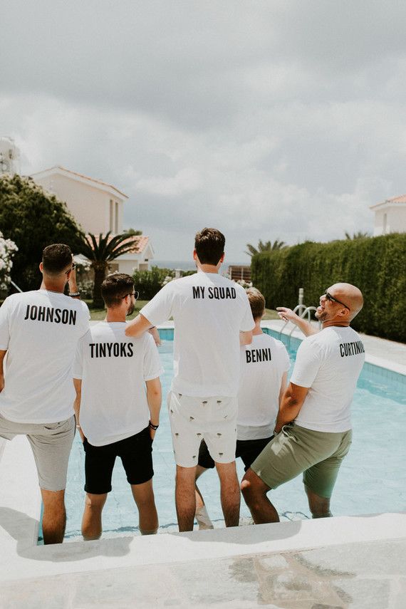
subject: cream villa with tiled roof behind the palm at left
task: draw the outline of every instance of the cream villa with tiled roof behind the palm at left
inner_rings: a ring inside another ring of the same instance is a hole
[[[86,233],[123,232],[123,209],[128,197],[112,184],[59,165],[34,173],[31,177],[46,191],[66,202],[76,222]],[[150,260],[154,257],[150,238],[140,235],[131,239],[135,241],[134,249],[110,264],[111,271],[132,274],[133,269],[149,269]]]

